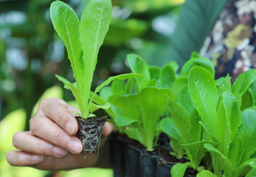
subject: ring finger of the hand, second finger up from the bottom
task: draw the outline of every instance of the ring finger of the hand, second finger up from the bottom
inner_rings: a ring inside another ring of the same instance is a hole
[[[39,139],[36,136],[32,136],[30,132],[17,132],[13,135],[13,146],[21,151],[30,153],[46,155],[46,156],[65,156],[67,150],[52,145],[44,139]]]

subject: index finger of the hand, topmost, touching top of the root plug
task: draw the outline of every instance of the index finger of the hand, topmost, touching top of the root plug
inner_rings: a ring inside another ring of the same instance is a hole
[[[58,98],[48,98],[41,101],[37,115],[52,119],[69,135],[75,135],[78,125],[70,111],[69,105]]]

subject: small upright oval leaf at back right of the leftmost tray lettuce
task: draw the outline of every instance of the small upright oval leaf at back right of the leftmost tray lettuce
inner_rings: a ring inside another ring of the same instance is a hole
[[[173,66],[166,64],[160,74],[159,74],[159,83],[162,88],[170,89],[176,80],[176,73],[173,69]]]

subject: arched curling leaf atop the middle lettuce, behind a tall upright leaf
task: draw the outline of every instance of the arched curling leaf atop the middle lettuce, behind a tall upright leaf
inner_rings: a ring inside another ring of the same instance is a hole
[[[207,69],[212,74],[212,77],[215,77],[215,68],[212,61],[208,58],[192,58],[188,60],[181,69],[181,76],[187,77],[190,73],[190,69],[194,66],[201,66]]]

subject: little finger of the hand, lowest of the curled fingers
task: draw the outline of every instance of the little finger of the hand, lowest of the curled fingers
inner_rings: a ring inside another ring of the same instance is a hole
[[[6,158],[7,162],[13,166],[29,166],[31,164],[38,164],[44,160],[44,156],[18,150],[11,150],[7,153]]]

